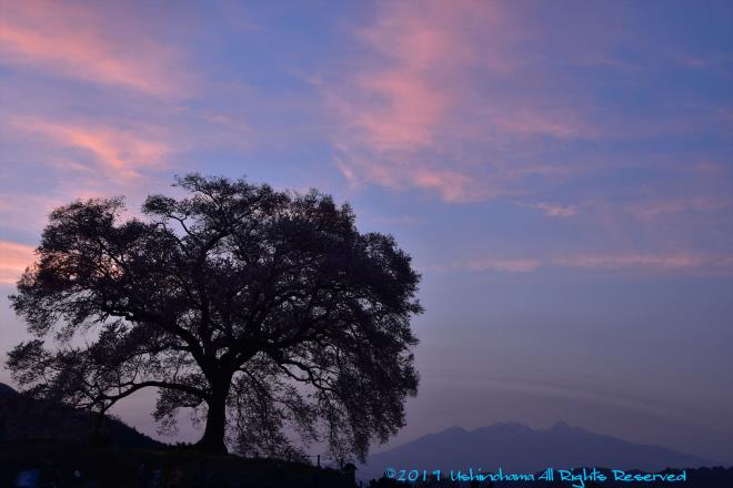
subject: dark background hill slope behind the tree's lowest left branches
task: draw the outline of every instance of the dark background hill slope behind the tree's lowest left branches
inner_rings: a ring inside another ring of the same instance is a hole
[[[0,440],[81,441],[89,438],[91,430],[91,418],[88,413],[31,398],[0,383]],[[111,417],[106,417],[101,431],[112,446],[125,448],[162,446],[161,443]]]

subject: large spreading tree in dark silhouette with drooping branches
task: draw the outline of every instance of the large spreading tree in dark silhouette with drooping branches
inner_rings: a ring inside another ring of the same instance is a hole
[[[36,338],[9,353],[30,394],[103,414],[158,388],[154,417],[198,443],[293,456],[299,439],[366,455],[404,425],[420,276],[349,205],[189,174],[184,193],[54,210],[10,299]]]

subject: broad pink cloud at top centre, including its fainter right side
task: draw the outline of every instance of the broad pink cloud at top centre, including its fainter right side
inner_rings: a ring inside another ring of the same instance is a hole
[[[533,173],[523,167],[532,163],[503,161],[508,148],[596,136],[542,87],[531,98],[515,92],[518,82],[544,75],[528,71],[519,51],[531,35],[503,3],[381,4],[371,24],[355,29],[365,49],[359,65],[321,84],[338,115],[343,176],[352,186],[418,187],[446,202],[489,200],[516,193],[514,182]]]

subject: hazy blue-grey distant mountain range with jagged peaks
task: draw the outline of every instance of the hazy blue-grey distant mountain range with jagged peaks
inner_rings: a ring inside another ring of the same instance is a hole
[[[606,467],[660,471],[694,468],[714,462],[660,446],[627,443],[570,427],[560,421],[535,430],[515,423],[494,424],[474,430],[451,427],[368,458],[364,471],[451,469],[534,472],[548,467],[570,469]]]

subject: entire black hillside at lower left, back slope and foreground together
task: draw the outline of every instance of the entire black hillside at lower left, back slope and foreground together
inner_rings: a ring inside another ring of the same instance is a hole
[[[159,471],[161,487],[188,488],[353,488],[348,476],[277,459],[210,456],[185,447],[161,444],[122,421],[107,418],[107,443],[89,441],[88,414],[50,401],[40,401],[0,384],[0,487],[13,486],[18,472],[39,469],[44,480],[60,486],[100,488],[140,486],[141,466]],[[72,474],[82,474],[82,481]],[[173,479],[179,481],[173,485]],[[92,485],[94,486],[94,485]]]

